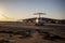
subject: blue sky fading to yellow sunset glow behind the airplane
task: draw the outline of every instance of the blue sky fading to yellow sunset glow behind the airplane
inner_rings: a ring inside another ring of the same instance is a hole
[[[65,19],[65,0],[0,0],[0,20],[38,17]],[[9,18],[8,18],[9,17]]]

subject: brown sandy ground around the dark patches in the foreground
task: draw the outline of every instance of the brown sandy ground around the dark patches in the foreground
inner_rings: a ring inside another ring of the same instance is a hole
[[[42,35],[36,31],[36,29],[43,30],[44,32],[49,32],[61,38],[65,38],[65,26],[64,25],[47,25],[47,26],[23,26],[23,25],[2,25],[0,24],[0,31],[22,31],[31,30],[32,38],[20,39],[21,35],[13,35],[10,38],[8,33],[0,33],[0,41],[8,40],[11,43],[65,43],[65,40],[46,40],[42,39]]]

